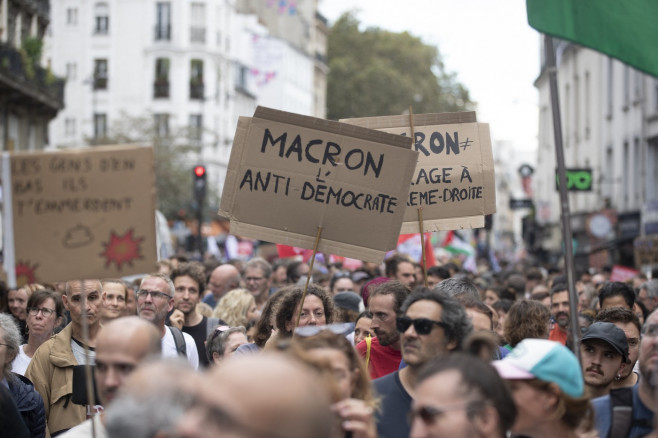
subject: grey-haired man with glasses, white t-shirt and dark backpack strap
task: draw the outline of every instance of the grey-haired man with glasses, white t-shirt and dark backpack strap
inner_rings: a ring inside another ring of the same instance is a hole
[[[160,332],[162,357],[185,356],[199,368],[199,353],[192,336],[165,325],[174,308],[174,283],[166,274],[151,274],[142,280],[137,291],[137,315],[155,324]]]

